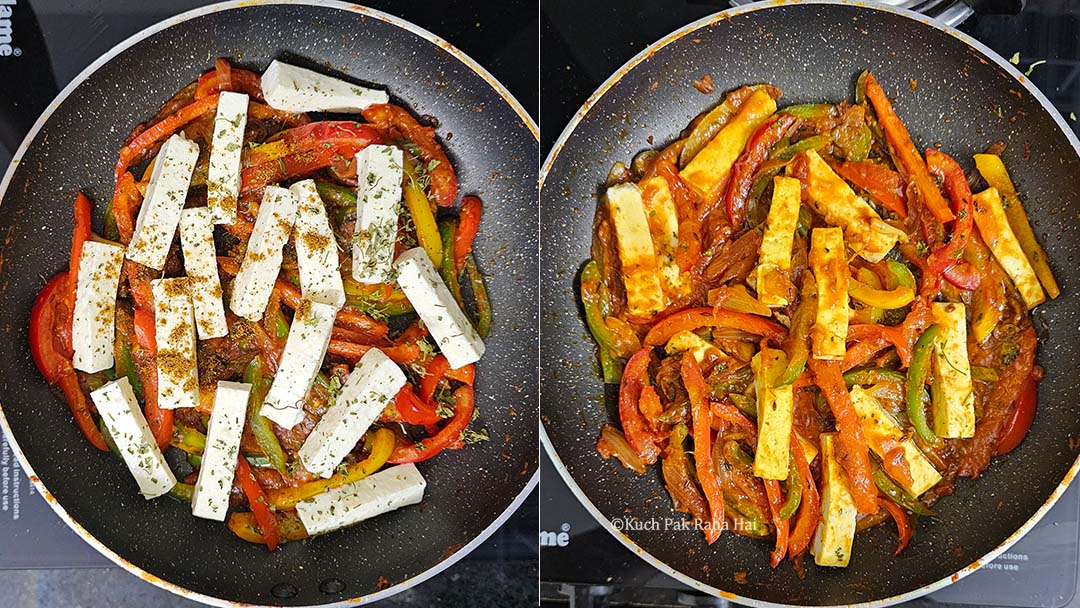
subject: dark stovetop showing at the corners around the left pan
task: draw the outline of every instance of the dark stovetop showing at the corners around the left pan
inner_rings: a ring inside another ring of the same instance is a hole
[[[41,111],[82,69],[129,36],[199,0],[6,0],[14,4],[13,52],[0,56],[0,170]],[[365,1],[436,32],[476,59],[534,116],[539,85],[522,65],[536,66],[538,23],[527,0],[482,0],[447,11],[428,0]],[[45,404],[43,404],[45,405]],[[55,404],[63,407],[59,402]],[[525,563],[537,555],[537,494],[465,559]],[[75,535],[37,496],[0,437],[0,570],[102,568],[111,563]],[[467,581],[462,581],[467,582]],[[521,581],[523,587],[527,581]],[[0,605],[3,605],[0,603]]]

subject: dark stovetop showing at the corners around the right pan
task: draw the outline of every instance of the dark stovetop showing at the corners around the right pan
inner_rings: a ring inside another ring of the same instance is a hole
[[[541,2],[541,93],[546,154],[581,104],[645,46],[726,1]],[[596,27],[595,24],[605,24]],[[1080,133],[1080,1],[1031,0],[1016,15],[973,15],[960,29],[1021,70]],[[1039,63],[1045,62],[1045,63]],[[626,550],[578,502],[544,455],[540,508],[541,597],[572,606],[710,606],[705,598]],[[910,604],[1080,607],[1080,490],[1076,486],[1024,539],[963,581]],[[916,537],[917,538],[917,537]],[[738,593],[738,589],[730,590]]]

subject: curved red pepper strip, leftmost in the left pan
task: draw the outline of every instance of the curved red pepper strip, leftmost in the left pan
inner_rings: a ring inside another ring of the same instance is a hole
[[[57,348],[62,341],[57,335],[71,330],[63,309],[67,292],[67,273],[62,272],[53,276],[33,300],[33,308],[30,309],[30,354],[45,380],[64,391],[64,400],[86,440],[97,449],[109,451],[102,431],[90,414],[90,404],[75,367]]]

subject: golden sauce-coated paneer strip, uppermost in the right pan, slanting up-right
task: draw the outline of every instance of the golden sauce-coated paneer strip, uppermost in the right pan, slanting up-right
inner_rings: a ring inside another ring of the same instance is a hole
[[[775,111],[777,102],[765,91],[755,91],[724,129],[687,163],[679,176],[699,194],[712,192],[728,178],[731,165],[742,154],[754,130]]]

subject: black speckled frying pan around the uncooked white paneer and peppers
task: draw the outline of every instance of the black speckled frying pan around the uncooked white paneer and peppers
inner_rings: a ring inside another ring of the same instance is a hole
[[[80,435],[27,348],[42,278],[67,266],[75,191],[95,201],[99,229],[124,135],[219,56],[259,71],[285,58],[386,86],[416,114],[436,117],[441,135],[454,134],[447,149],[461,191],[486,203],[476,251],[496,323],[477,366],[474,424],[491,440],[421,463],[428,489],[419,505],[272,554],[192,517],[187,504],[144,500],[123,462]],[[342,2],[216,4],[144,30],[94,62],[38,120],[0,184],[0,326],[8,344],[0,421],[37,489],[117,564],[220,606],[368,602],[460,559],[537,483],[536,137],[521,106],[460,51]]]

